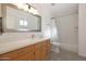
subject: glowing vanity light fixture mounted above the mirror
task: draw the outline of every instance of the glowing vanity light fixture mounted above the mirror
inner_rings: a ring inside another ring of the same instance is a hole
[[[39,15],[38,10],[36,10],[33,5],[28,3],[13,3],[14,5],[17,7],[17,9],[23,9],[26,12],[29,12],[35,15]]]

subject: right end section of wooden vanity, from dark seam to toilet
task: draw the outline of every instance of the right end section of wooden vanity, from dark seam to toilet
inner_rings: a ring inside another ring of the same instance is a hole
[[[47,60],[50,51],[50,40],[45,40],[42,42],[39,42],[35,44],[35,60],[36,61],[44,61]]]

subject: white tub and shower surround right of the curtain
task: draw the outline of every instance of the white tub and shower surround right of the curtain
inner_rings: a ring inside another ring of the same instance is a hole
[[[67,15],[57,18],[57,24],[59,28],[59,36],[61,42],[61,49],[71,52],[77,52],[78,48],[78,15]]]

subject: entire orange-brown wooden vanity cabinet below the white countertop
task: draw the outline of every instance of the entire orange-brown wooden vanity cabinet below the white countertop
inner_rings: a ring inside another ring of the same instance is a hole
[[[0,54],[2,61],[44,61],[50,51],[50,40],[27,46],[15,51]]]

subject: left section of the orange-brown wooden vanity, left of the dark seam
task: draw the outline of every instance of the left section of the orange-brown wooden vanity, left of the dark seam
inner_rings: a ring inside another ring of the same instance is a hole
[[[30,53],[32,52],[32,53]],[[3,53],[0,55],[0,60],[3,61],[21,61],[21,60],[32,60],[32,55],[34,53],[34,46],[27,46],[25,48],[21,48],[8,53]]]

